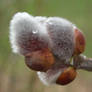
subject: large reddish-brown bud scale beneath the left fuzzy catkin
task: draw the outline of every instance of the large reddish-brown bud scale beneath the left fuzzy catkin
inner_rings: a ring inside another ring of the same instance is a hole
[[[45,72],[54,64],[54,57],[49,49],[44,49],[27,55],[25,63],[30,69]]]

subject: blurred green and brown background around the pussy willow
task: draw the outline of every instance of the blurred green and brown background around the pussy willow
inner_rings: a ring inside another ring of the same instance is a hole
[[[92,73],[78,71],[67,86],[45,86],[22,56],[12,53],[9,23],[16,12],[34,16],[59,16],[75,23],[85,34],[88,57],[92,57],[92,0],[0,0],[0,92],[92,92]]]

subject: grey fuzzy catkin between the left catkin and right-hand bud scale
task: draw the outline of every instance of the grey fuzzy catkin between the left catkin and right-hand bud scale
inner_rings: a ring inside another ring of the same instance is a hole
[[[46,27],[52,40],[52,52],[61,60],[68,62],[74,51],[73,24],[64,18],[49,17]]]

